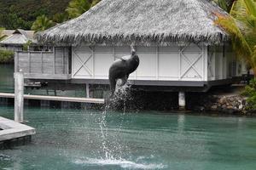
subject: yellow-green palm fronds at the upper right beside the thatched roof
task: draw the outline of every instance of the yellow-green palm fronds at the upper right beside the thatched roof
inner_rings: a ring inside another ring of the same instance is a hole
[[[245,60],[256,76],[256,3],[255,0],[237,0],[230,15],[218,14],[216,24],[230,33],[236,54]]]

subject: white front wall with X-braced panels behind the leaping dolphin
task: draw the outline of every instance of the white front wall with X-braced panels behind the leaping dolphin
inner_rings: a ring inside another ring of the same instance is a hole
[[[203,65],[206,60],[203,57],[207,58],[207,53],[203,55],[201,47],[192,45],[183,48],[176,45],[159,48],[135,48],[140,58],[140,65],[137,71],[130,75],[131,80],[203,81],[203,76],[207,77],[205,75],[207,71],[204,71],[207,69],[207,65]],[[180,49],[183,49],[182,53],[180,53]],[[73,78],[108,79],[108,69],[114,59],[130,54],[129,46],[73,48]],[[81,66],[79,59],[83,62],[87,59],[84,64],[86,67]],[[81,68],[79,69],[79,67]]]

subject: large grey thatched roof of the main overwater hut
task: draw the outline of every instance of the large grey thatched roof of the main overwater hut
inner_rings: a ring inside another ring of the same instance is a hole
[[[172,42],[224,42],[209,0],[102,0],[76,19],[37,34],[38,41],[78,45],[136,45]]]

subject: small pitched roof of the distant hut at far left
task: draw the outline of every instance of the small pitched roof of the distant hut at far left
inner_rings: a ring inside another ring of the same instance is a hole
[[[3,31],[3,33],[10,33],[12,32],[9,37],[4,38],[0,44],[4,45],[23,45],[28,41],[32,41],[36,43],[36,40],[33,39],[34,31],[24,31],[21,29],[17,29],[15,31]]]

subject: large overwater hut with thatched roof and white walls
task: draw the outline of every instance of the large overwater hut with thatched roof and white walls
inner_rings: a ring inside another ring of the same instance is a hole
[[[30,81],[108,84],[113,61],[130,54],[140,65],[129,78],[151,90],[207,91],[246,70],[227,32],[214,25],[226,14],[208,0],[102,0],[76,19],[36,35],[52,52],[17,52],[15,71]]]

